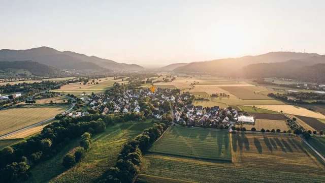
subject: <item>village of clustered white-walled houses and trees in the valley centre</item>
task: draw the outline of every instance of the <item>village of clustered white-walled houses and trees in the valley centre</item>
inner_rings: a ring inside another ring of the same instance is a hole
[[[252,115],[241,113],[231,107],[221,109],[219,106],[194,106],[191,101],[194,96],[190,93],[179,94],[178,90],[148,88],[126,89],[120,93],[84,95],[84,101],[91,110],[105,114],[139,113],[146,117],[160,120],[171,108],[174,122],[188,127],[204,127],[217,129],[230,129],[236,124],[253,125],[255,118]],[[75,111],[67,114],[79,117],[89,114],[89,111]]]

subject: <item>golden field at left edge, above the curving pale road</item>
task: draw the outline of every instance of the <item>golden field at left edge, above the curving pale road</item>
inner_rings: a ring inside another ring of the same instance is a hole
[[[64,110],[64,107],[24,107],[0,110],[0,135],[39,123]]]

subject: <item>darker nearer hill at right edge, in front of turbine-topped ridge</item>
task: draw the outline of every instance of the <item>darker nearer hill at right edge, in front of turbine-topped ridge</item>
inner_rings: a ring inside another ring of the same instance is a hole
[[[252,64],[243,68],[247,78],[291,78],[310,82],[325,82],[325,56],[313,56],[281,63]]]

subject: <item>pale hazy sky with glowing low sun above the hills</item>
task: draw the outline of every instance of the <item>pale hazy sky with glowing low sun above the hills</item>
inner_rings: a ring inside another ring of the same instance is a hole
[[[49,46],[142,66],[325,54],[325,1],[0,0],[0,49]]]

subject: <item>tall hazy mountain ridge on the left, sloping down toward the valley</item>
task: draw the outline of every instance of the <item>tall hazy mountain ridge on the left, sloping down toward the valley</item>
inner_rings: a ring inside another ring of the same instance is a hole
[[[0,61],[32,60],[40,64],[58,69],[108,69],[112,71],[138,71],[141,66],[121,64],[113,60],[96,56],[87,56],[72,51],[58,51],[49,47],[39,47],[27,50],[0,50]]]

